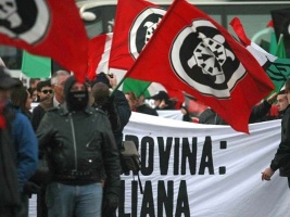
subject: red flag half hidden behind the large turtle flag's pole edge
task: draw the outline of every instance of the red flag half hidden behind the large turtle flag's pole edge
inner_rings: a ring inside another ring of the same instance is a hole
[[[129,69],[165,13],[144,0],[118,0],[110,68]]]

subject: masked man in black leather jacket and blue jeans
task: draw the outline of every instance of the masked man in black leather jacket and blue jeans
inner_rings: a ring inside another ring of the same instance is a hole
[[[100,217],[103,182],[106,208],[119,192],[119,158],[108,116],[88,106],[85,84],[72,76],[65,104],[48,111],[37,130],[48,155],[52,182],[47,188],[48,216]]]

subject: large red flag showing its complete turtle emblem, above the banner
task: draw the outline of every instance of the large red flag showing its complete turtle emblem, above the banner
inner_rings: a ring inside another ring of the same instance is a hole
[[[185,0],[175,0],[127,77],[175,87],[249,132],[251,108],[274,88],[249,51]]]

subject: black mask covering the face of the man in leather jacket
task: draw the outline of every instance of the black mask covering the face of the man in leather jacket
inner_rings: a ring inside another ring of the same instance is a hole
[[[84,111],[89,102],[88,91],[68,92],[67,108],[68,111]]]

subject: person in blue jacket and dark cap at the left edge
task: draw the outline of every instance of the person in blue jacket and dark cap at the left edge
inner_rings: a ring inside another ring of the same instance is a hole
[[[38,142],[31,124],[10,103],[10,90],[20,84],[0,66],[0,216],[28,216],[24,187],[38,163]]]

